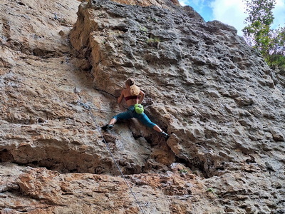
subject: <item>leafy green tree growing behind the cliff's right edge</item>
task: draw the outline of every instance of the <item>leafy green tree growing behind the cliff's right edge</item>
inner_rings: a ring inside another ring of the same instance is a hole
[[[243,1],[249,15],[244,20],[247,26],[242,29],[247,43],[261,52],[269,66],[285,67],[285,27],[271,29],[276,0]]]

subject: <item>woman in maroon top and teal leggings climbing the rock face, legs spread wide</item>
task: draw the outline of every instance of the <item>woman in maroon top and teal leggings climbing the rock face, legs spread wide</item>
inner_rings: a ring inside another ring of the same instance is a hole
[[[133,80],[133,78],[128,78],[127,81],[125,81],[125,89],[123,89],[122,93],[120,94],[120,97],[118,98],[119,104],[121,103],[123,98],[125,98],[125,101],[128,105],[128,111],[113,116],[110,122],[102,127],[103,130],[113,128],[114,124],[117,121],[129,118],[138,118],[145,126],[153,128],[155,131],[161,133],[163,137],[169,138],[169,135],[167,133],[162,131],[162,129],[155,123],[152,123],[152,121],[150,121],[147,115],[143,113],[143,110],[141,109],[142,106],[140,105],[140,103],[142,103],[143,98],[145,98],[145,93],[141,91],[138,86],[135,85],[135,81]]]

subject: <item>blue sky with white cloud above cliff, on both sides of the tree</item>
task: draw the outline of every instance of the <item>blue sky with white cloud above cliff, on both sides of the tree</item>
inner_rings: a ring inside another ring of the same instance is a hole
[[[242,0],[179,0],[182,6],[189,5],[195,9],[204,21],[218,20],[224,24],[229,24],[237,29],[237,34],[242,36],[244,28],[245,4]],[[279,24],[285,26],[285,0],[276,0],[274,14],[274,24],[272,28],[276,29]]]

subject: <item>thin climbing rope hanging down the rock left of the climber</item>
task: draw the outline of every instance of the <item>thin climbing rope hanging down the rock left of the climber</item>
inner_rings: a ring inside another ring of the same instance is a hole
[[[79,101],[79,104],[80,104],[81,106],[83,106],[83,108],[86,108],[86,109],[88,110],[88,112],[89,112],[91,118],[93,119],[93,122],[95,123],[96,128],[98,129],[98,131],[99,131],[99,133],[100,133],[100,136],[103,138],[103,141],[104,141],[104,143],[105,143],[106,148],[108,149],[108,152],[110,153],[110,156],[112,157],[112,159],[113,159],[113,161],[114,161],[116,167],[118,168],[118,170],[119,170],[119,172],[120,172],[120,175],[122,175],[123,179],[125,180],[125,183],[126,183],[126,185],[128,186],[128,188],[129,188],[129,190],[130,190],[130,193],[131,193],[131,194],[133,195],[133,197],[135,198],[135,202],[138,203],[138,205],[139,205],[139,207],[140,207],[140,210],[142,211],[142,213],[145,213],[145,212],[142,210],[142,207],[141,207],[140,203],[138,202],[138,199],[135,197],[135,193],[133,193],[133,190],[132,190],[132,188],[130,187],[130,185],[129,185],[127,179],[125,178],[125,175],[123,174],[122,170],[120,169],[120,166],[118,165],[117,161],[115,161],[115,157],[113,156],[113,153],[112,153],[112,151],[110,150],[110,147],[108,146],[107,141],[105,141],[105,138],[104,138],[104,136],[103,136],[103,134],[102,134],[102,132],[101,132],[101,130],[100,130],[100,126],[98,126],[98,123],[97,123],[97,121],[96,121],[96,118],[95,118],[95,116],[93,115],[93,113],[92,113],[92,111],[91,111],[91,109],[95,109],[95,108],[91,108],[91,107],[88,106],[86,103],[82,103],[81,101]]]

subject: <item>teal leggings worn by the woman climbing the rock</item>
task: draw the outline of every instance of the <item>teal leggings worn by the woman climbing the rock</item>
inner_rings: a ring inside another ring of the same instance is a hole
[[[130,118],[138,118],[147,127],[153,128],[153,126],[156,126],[155,123],[152,123],[152,121],[150,121],[150,118],[148,118],[145,113],[136,113],[135,106],[130,106],[128,108],[128,111],[119,113],[116,116],[113,116],[113,118],[115,118],[117,121],[126,120]]]

